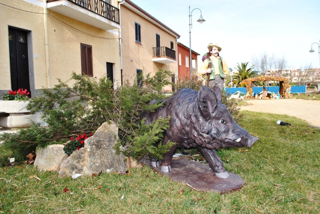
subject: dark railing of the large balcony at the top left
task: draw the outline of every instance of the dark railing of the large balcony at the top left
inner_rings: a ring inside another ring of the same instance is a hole
[[[49,2],[55,2],[58,0],[47,0]],[[110,21],[120,24],[120,14],[119,9],[108,4],[103,0],[67,0],[73,4],[78,5],[88,11],[98,14]]]

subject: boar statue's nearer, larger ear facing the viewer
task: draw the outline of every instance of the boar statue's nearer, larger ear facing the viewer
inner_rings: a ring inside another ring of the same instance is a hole
[[[205,120],[211,118],[211,114],[215,111],[217,105],[218,100],[213,91],[206,86],[202,86],[198,91],[198,108]]]

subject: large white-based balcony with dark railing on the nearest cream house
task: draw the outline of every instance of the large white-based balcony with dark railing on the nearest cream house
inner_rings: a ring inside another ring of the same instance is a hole
[[[120,28],[119,9],[103,0],[47,0],[47,8],[103,30]]]

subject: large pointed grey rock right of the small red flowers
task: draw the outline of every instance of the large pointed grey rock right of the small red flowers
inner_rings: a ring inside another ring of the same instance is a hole
[[[112,122],[103,123],[94,135],[84,141],[84,147],[74,151],[61,163],[59,177],[75,174],[92,175],[106,171],[126,171],[126,157],[116,155],[118,128]]]

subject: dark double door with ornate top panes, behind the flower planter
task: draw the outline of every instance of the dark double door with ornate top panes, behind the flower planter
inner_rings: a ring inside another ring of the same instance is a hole
[[[9,28],[9,54],[11,89],[30,92],[27,32]]]

